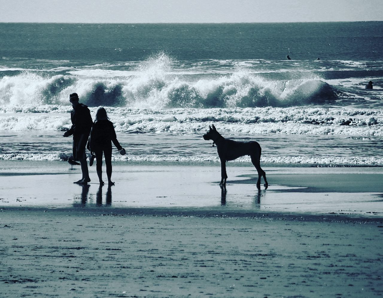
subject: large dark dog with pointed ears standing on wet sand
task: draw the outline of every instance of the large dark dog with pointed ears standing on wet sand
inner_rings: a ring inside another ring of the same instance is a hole
[[[261,146],[255,141],[233,141],[231,139],[225,139],[218,133],[217,129],[211,128],[209,125],[209,131],[203,135],[205,141],[212,140],[213,146],[217,145],[217,152],[219,159],[221,160],[221,182],[219,185],[226,185],[226,161],[237,159],[238,157],[249,155],[251,162],[258,172],[257,188],[260,188],[261,177],[264,178],[264,186],[267,188],[268,183],[266,180],[266,173],[260,166],[261,158]]]

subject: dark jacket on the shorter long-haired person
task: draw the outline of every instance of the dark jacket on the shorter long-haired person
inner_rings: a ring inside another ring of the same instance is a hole
[[[113,123],[109,120],[96,120],[93,123],[92,131],[90,132],[89,150],[94,152],[98,148],[112,146],[111,142],[115,144],[118,151],[122,149],[117,141]]]

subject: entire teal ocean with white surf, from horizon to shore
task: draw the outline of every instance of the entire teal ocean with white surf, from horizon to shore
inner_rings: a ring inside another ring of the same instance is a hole
[[[202,138],[214,124],[258,141],[263,166],[381,167],[382,29],[0,23],[0,159],[67,160],[77,92],[93,118],[106,108],[127,152],[114,151],[119,165],[218,163]]]

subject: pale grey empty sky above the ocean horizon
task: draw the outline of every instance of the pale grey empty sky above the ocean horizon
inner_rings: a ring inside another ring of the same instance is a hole
[[[383,21],[383,0],[0,0],[0,23]]]

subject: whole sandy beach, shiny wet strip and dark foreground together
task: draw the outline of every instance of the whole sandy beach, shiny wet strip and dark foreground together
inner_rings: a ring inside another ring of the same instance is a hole
[[[258,191],[244,165],[224,190],[217,164],[116,165],[111,188],[43,164],[3,163],[1,297],[383,293],[379,169],[265,168]]]

